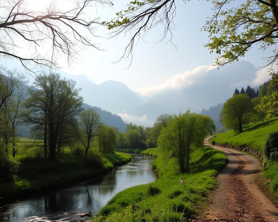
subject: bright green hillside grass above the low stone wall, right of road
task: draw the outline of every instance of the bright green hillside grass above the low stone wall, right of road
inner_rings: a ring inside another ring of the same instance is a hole
[[[211,142],[228,143],[229,145],[239,146],[248,145],[254,149],[261,150],[268,133],[278,129],[278,117],[272,118],[264,123],[251,124],[242,133],[229,130],[224,133],[216,134]]]

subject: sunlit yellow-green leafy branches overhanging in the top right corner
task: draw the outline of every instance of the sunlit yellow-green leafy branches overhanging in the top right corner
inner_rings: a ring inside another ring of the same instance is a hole
[[[219,54],[216,64],[223,65],[239,57],[253,46],[260,44],[260,49],[276,44],[272,34],[276,36],[275,16],[272,15],[268,3],[247,0],[237,6],[229,1],[213,0],[214,15],[204,26],[209,32],[209,43],[206,44],[212,52]],[[269,57],[269,63],[276,61],[277,51]]]

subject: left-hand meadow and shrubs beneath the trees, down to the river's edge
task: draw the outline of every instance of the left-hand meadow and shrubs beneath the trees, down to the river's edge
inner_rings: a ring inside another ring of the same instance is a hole
[[[4,199],[25,197],[34,191],[90,179],[131,160],[127,153],[102,155],[94,148],[89,150],[85,160],[83,147],[65,147],[57,154],[56,161],[50,162],[43,158],[43,149],[39,149],[42,141],[34,143],[34,140],[21,138],[17,145],[14,159],[19,165],[14,180],[0,183],[0,197]]]

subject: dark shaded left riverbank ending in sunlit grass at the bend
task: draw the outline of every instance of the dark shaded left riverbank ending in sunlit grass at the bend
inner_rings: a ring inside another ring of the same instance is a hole
[[[103,155],[100,161],[93,162],[60,158],[49,162],[42,158],[22,158],[18,175],[13,182],[0,184],[1,203],[13,199],[29,197],[42,191],[57,188],[103,175],[114,166],[125,164],[131,160],[127,153]]]

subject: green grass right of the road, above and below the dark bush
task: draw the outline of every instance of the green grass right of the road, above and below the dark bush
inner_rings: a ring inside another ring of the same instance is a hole
[[[229,130],[217,134],[211,139],[215,143],[228,143],[231,145],[248,145],[254,149],[261,150],[269,132],[278,130],[278,117],[272,118],[264,123],[250,125],[242,133]],[[268,162],[266,164],[264,177],[269,180],[270,191],[278,197],[278,162]]]

